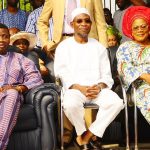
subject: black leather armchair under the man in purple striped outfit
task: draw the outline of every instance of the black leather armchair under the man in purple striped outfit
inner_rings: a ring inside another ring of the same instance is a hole
[[[20,109],[7,150],[55,150],[58,86],[45,83],[31,89]]]

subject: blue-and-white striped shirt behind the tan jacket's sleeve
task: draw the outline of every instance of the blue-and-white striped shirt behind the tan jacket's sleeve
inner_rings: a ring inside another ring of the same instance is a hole
[[[38,36],[38,28],[37,28],[37,20],[42,12],[43,6],[35,9],[33,12],[30,13],[28,16],[27,24],[26,24],[26,32],[32,32],[37,35],[38,41],[37,46],[41,46],[40,38]],[[50,18],[49,20],[49,40],[52,40],[52,34],[53,34],[53,20]]]

